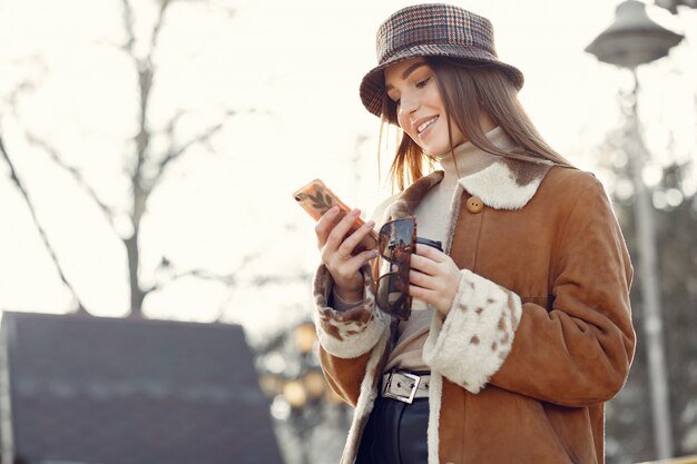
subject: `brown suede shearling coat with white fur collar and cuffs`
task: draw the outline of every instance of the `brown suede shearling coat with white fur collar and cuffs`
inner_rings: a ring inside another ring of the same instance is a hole
[[[441,179],[419,179],[384,219],[411,214]],[[501,158],[455,195],[444,249],[460,287],[424,346],[429,464],[602,463],[605,402],[635,349],[632,267],[602,186],[580,170]],[[467,207],[472,196],[483,210]],[[393,328],[375,308],[370,266],[363,273],[364,302],[347,312],[327,305],[324,266],[314,282],[322,367],[355,406],[343,464],[355,461]]]

